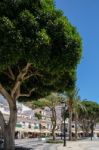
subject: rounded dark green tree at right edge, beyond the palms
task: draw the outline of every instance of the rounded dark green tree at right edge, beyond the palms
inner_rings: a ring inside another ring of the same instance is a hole
[[[85,106],[86,111],[79,110],[79,123],[86,136],[91,133],[92,139],[94,127],[99,122],[99,104],[88,100],[82,101],[82,104]]]

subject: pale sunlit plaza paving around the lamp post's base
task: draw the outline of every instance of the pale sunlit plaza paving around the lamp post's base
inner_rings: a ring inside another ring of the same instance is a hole
[[[66,147],[63,147],[63,144],[48,144],[34,139],[16,141],[17,146],[29,148],[30,150],[99,150],[99,140],[67,141],[66,144]]]

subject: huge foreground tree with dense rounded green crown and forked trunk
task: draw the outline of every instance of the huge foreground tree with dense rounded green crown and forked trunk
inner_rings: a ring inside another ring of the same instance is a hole
[[[10,109],[7,123],[0,113],[5,150],[15,149],[16,101],[72,89],[81,51],[78,32],[53,0],[0,1],[0,93]]]

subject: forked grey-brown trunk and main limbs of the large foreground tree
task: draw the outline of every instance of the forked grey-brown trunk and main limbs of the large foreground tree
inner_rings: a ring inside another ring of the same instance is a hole
[[[31,64],[27,63],[27,65],[19,72],[19,74],[16,77],[13,88],[10,89],[11,93],[9,93],[0,83],[0,94],[2,94],[5,97],[5,99],[9,104],[10,109],[9,121],[8,123],[4,123],[4,150],[15,150],[14,138],[15,138],[15,126],[17,121],[16,99],[18,99],[21,95],[20,86],[22,81],[24,81],[25,78],[28,77],[27,73],[30,66]],[[28,96],[30,96],[30,94],[31,92],[28,94]],[[2,118],[2,115],[0,116]]]

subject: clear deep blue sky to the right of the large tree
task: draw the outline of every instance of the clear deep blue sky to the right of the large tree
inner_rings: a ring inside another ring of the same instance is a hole
[[[77,70],[79,95],[99,103],[99,0],[56,0],[56,7],[64,11],[83,40]]]

